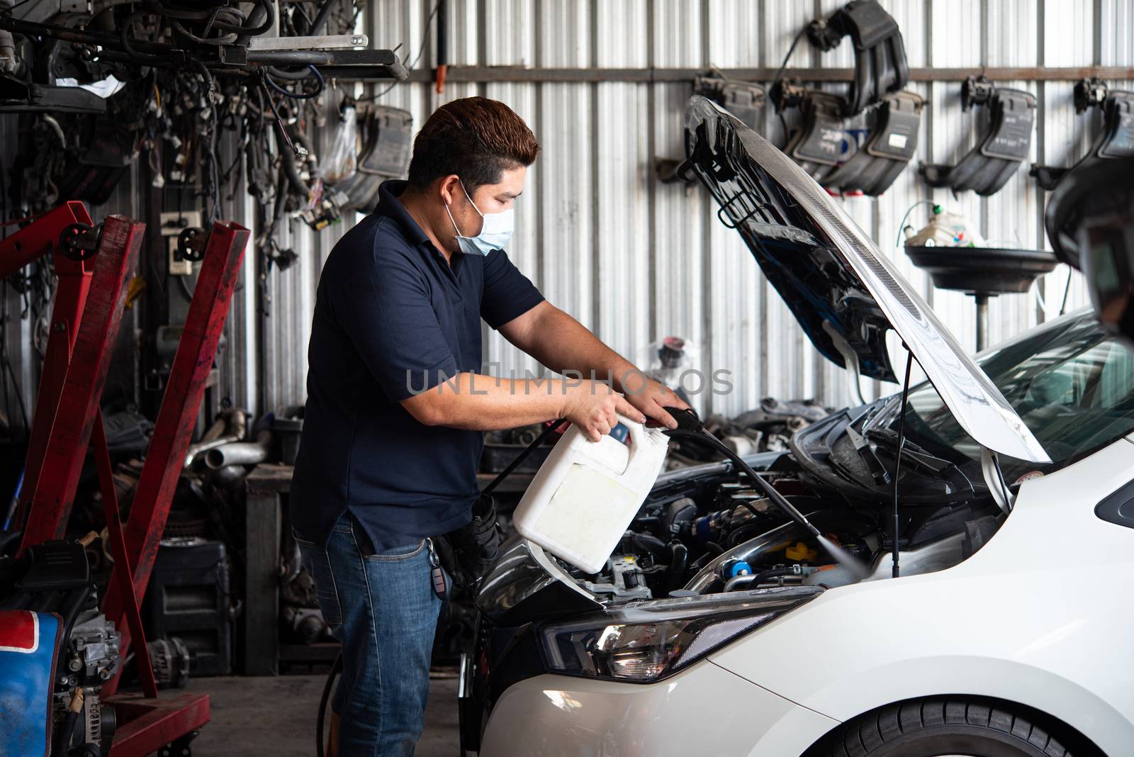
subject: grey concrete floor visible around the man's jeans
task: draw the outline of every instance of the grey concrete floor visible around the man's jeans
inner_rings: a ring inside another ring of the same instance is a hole
[[[313,757],[323,675],[197,678],[191,691],[208,691],[212,721],[193,741],[194,757]],[[430,681],[425,732],[416,757],[455,757],[460,747],[457,679]]]

